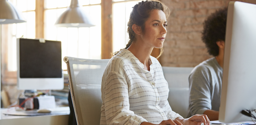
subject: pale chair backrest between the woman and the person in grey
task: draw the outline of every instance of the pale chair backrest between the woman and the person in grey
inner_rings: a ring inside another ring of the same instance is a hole
[[[169,85],[168,101],[172,110],[182,117],[188,115],[189,82],[188,77],[193,67],[165,67],[163,75]]]

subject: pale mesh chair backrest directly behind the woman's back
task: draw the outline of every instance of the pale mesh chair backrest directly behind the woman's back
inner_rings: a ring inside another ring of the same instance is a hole
[[[78,125],[99,125],[101,117],[101,79],[109,59],[64,57],[69,90]]]

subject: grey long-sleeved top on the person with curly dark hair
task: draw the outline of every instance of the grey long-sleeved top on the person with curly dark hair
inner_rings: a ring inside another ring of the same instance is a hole
[[[219,111],[223,69],[215,57],[197,65],[189,75],[189,116]]]

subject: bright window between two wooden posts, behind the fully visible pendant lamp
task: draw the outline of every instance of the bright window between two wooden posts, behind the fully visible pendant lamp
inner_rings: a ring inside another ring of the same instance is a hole
[[[82,8],[93,17],[94,27],[55,27],[57,18],[71,0],[45,0],[44,38],[61,41],[62,58],[101,59],[101,0],[80,0]],[[62,68],[67,69],[63,62]]]

